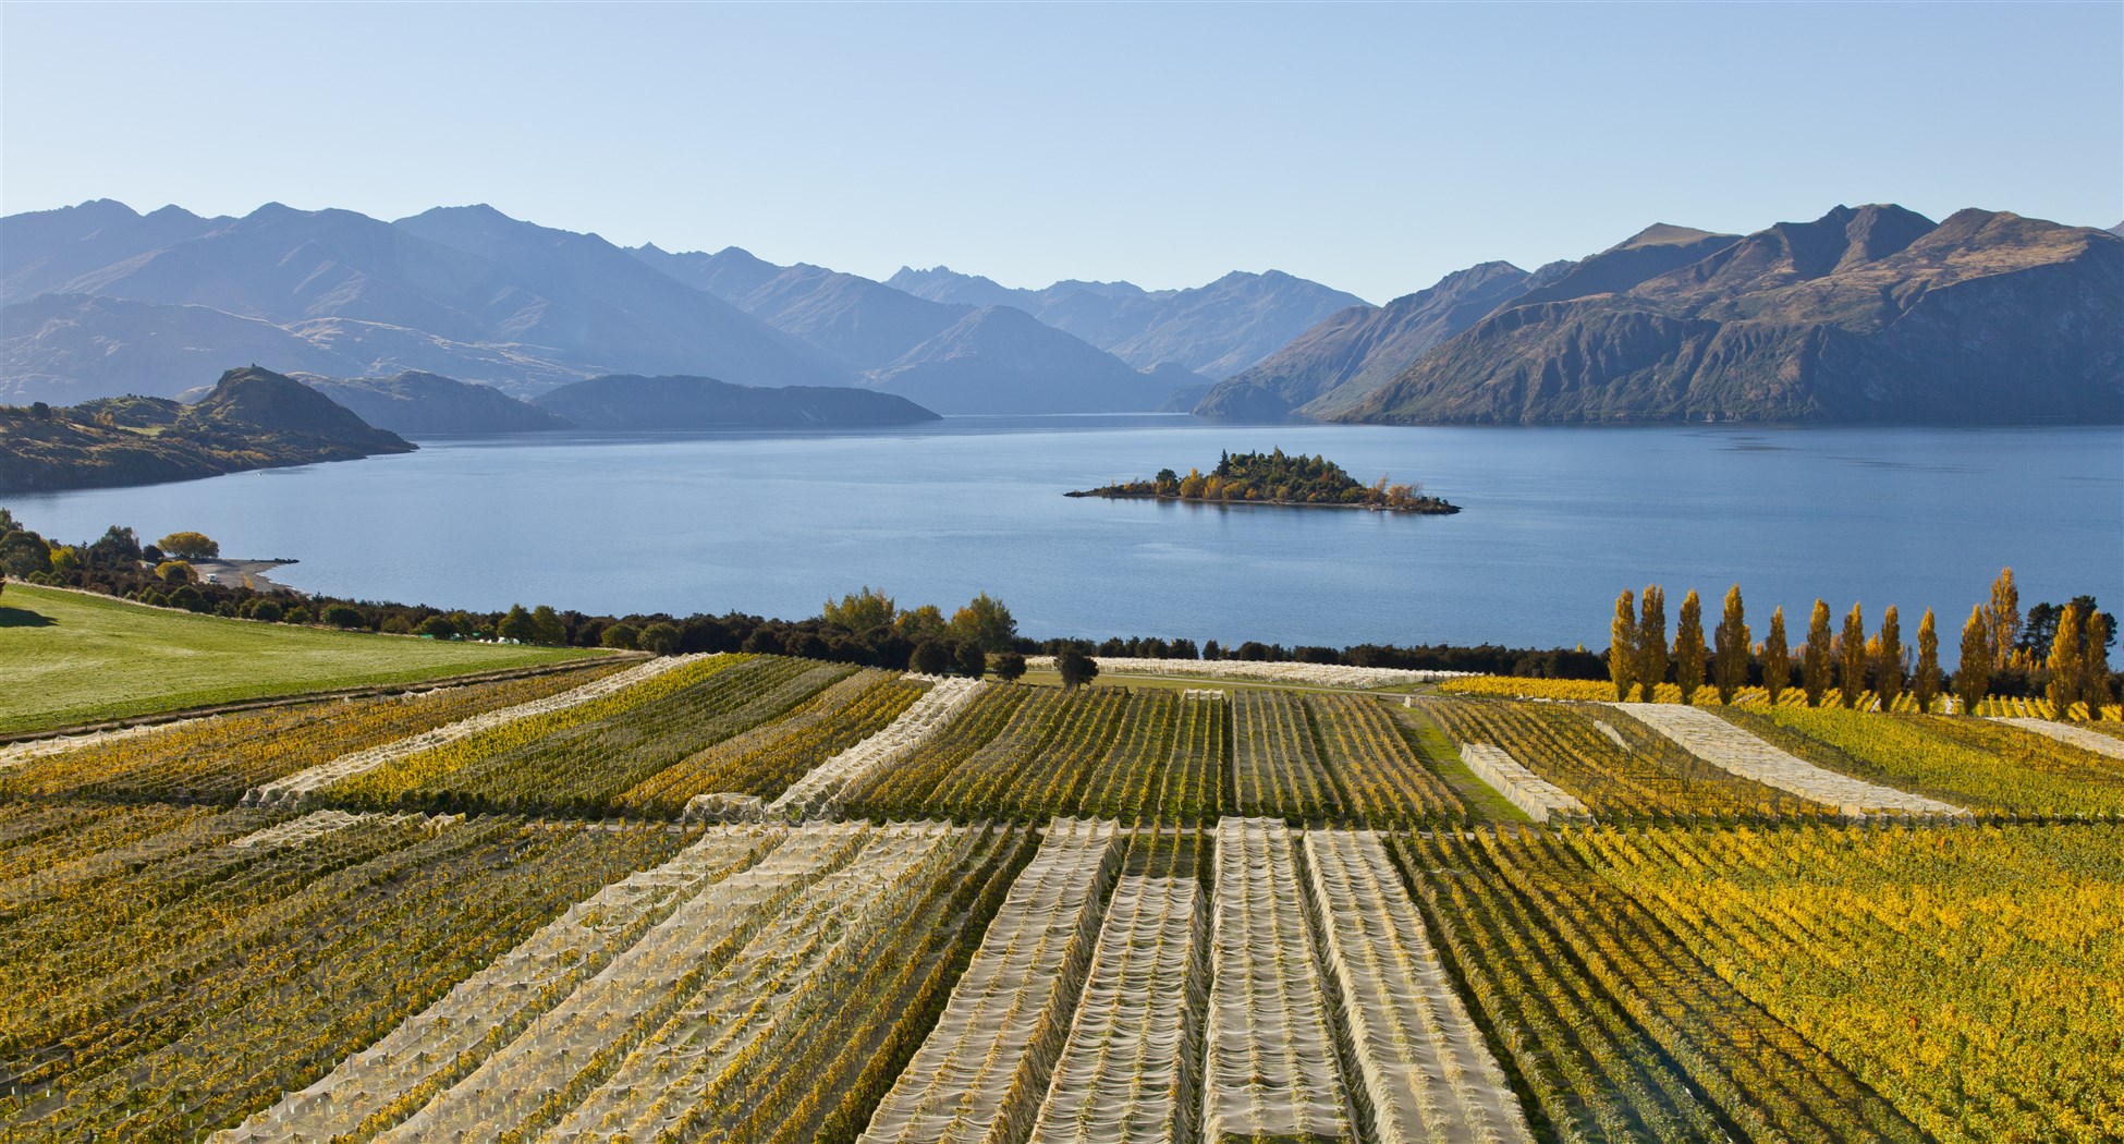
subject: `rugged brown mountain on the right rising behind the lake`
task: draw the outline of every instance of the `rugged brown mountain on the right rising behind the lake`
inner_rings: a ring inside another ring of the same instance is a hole
[[[2124,240],[1837,206],[1485,264],[1315,325],[1196,406],[1372,423],[2120,421]]]

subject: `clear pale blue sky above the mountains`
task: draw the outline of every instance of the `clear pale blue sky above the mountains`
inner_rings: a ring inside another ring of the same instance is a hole
[[[0,211],[87,198],[1383,302],[1652,221],[2111,225],[2124,4],[11,0]]]

